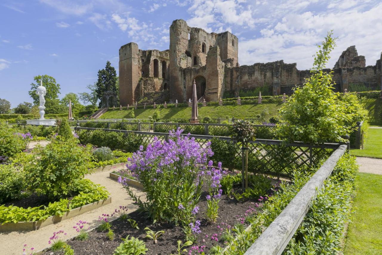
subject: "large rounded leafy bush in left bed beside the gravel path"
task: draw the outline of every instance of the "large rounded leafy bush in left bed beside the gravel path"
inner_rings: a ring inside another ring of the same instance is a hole
[[[29,188],[49,198],[67,196],[75,189],[73,180],[84,178],[91,146],[78,146],[77,139],[52,138],[45,147],[36,147],[31,161],[23,162]]]

